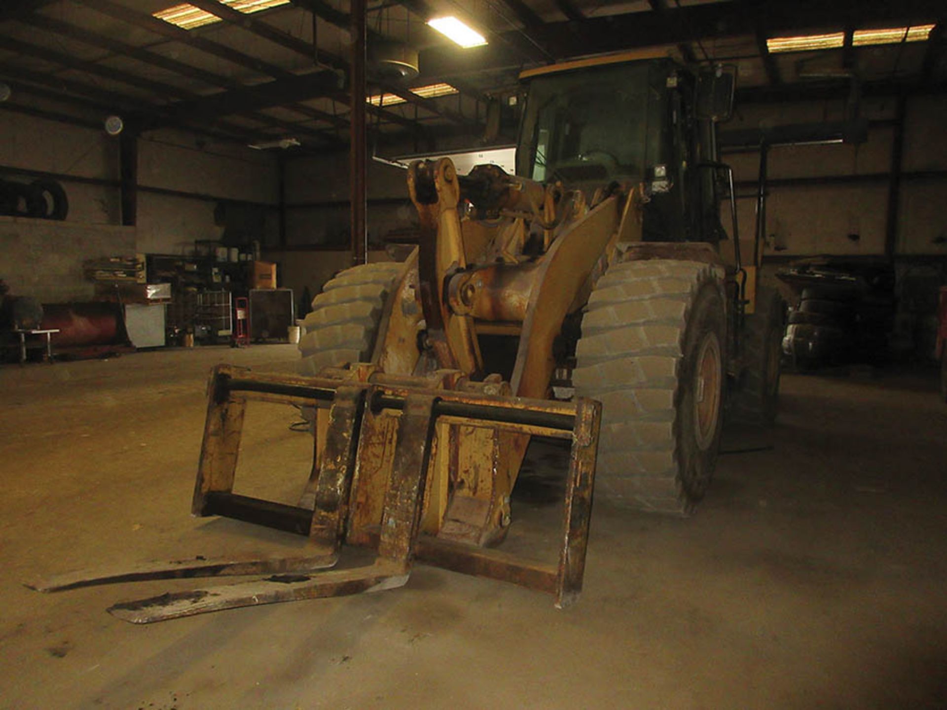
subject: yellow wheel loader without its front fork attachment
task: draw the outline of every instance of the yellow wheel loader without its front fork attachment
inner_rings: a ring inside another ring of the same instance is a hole
[[[516,397],[598,399],[599,495],[688,513],[713,472],[724,399],[760,422],[776,405],[779,301],[765,292],[757,308],[735,209],[733,235],[719,216],[733,195],[715,124],[732,75],[611,57],[523,79],[517,174],[412,165],[418,251],[326,284],[305,321],[302,371],[450,368],[498,373]],[[505,448],[510,482],[524,445]],[[453,487],[449,503],[467,509],[469,495]],[[502,537],[509,510],[501,500],[493,513],[477,522],[480,543]]]

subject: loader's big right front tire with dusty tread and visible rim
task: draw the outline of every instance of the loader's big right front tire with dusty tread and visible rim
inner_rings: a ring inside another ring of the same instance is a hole
[[[596,488],[619,506],[687,515],[706,493],[722,423],[722,276],[697,261],[620,262],[589,298],[572,382],[602,403]]]

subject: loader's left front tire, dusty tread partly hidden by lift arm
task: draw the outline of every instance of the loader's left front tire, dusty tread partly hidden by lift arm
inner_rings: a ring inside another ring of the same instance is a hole
[[[402,268],[403,264],[392,261],[361,264],[326,283],[303,321],[301,374],[317,375],[323,367],[367,362],[384,303]]]

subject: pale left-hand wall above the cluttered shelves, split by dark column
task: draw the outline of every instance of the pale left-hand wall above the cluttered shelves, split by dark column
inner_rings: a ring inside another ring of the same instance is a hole
[[[85,179],[61,181],[69,198],[66,222],[120,223],[116,138],[91,126],[3,110],[0,135],[0,177],[29,182],[33,178],[15,172],[24,169]],[[271,152],[181,131],[145,133],[138,139],[138,185],[133,253],[183,254],[194,240],[219,238],[218,200],[268,205],[260,239],[276,240],[278,164]]]

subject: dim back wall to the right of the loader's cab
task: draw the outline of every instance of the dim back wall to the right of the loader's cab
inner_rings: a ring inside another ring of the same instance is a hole
[[[888,210],[888,181],[896,131],[878,122],[893,121],[896,98],[868,99],[863,111],[876,122],[860,145],[774,147],[769,152],[766,254],[803,257],[819,254],[883,256]],[[840,120],[842,100],[807,104],[751,104],[739,107],[725,128],[757,128],[787,123]],[[940,117],[947,97],[908,98],[903,128],[902,183],[895,256],[947,257],[947,178],[918,175],[947,170],[947,145]],[[759,153],[725,154],[738,182],[754,182]],[[865,176],[875,176],[865,179]],[[786,179],[861,177],[833,184],[779,185]],[[752,190],[743,189],[742,194]],[[753,238],[756,204],[738,204],[744,242]],[[724,213],[724,225],[729,217]],[[858,239],[854,239],[857,236]],[[745,247],[744,247],[745,248]]]

